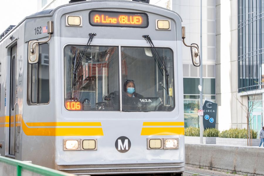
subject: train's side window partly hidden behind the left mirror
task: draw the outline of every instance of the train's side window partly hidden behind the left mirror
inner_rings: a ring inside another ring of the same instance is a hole
[[[39,45],[39,61],[29,64],[29,104],[47,104],[50,101],[49,46]]]

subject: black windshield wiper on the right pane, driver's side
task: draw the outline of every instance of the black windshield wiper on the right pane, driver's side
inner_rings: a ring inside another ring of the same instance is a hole
[[[150,36],[149,36],[149,35],[142,35],[142,37],[144,37],[145,40],[146,40],[147,42],[150,43],[150,46],[151,46],[151,52],[153,53],[154,58],[155,58],[156,61],[160,64],[160,66],[162,66],[163,70],[165,71],[165,74],[166,74],[166,76],[165,76],[165,80],[166,80],[166,88],[167,88],[167,89],[165,89],[165,90],[167,91],[167,94],[169,94],[169,83],[168,83],[169,72],[168,72],[168,70],[167,70],[165,60],[163,59],[163,61],[162,61],[162,60],[160,59],[160,56],[159,56],[159,54],[158,54],[158,52],[157,52],[157,50],[156,50],[156,48],[155,48],[155,46],[154,46],[154,44],[153,44],[151,38],[150,38]]]

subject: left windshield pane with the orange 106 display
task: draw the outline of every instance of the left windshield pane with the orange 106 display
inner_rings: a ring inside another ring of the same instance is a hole
[[[118,48],[90,46],[73,73],[84,46],[64,49],[67,110],[119,110]]]

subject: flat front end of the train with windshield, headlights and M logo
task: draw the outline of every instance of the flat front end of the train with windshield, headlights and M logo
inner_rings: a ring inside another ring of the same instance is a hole
[[[181,18],[134,1],[55,9],[55,163],[73,174],[184,171]],[[58,59],[61,58],[61,59]]]

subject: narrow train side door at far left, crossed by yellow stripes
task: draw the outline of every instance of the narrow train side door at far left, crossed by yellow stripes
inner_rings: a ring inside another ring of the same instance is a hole
[[[16,48],[11,48],[10,60],[10,107],[9,107],[9,155],[16,155],[18,151],[18,143],[16,142]]]

